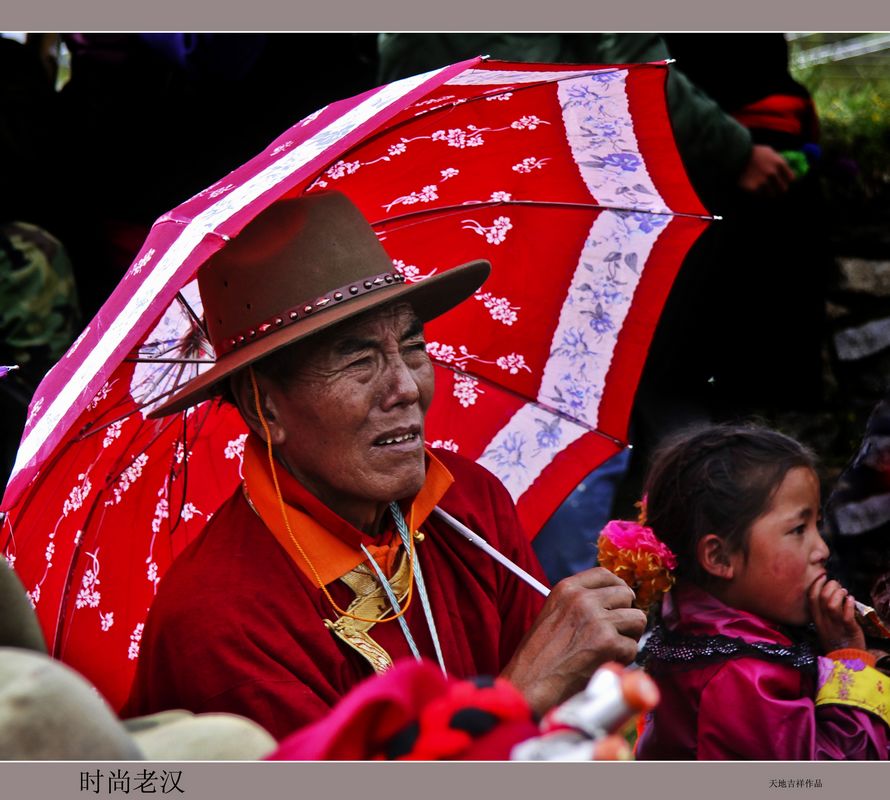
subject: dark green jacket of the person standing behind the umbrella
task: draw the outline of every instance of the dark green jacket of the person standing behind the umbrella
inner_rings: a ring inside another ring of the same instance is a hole
[[[653,33],[381,33],[380,80],[390,82],[477,55],[512,61],[632,64],[669,58]],[[679,69],[677,68],[679,67]],[[751,156],[748,130],[672,67],[667,101],[689,178],[706,205],[732,192]]]

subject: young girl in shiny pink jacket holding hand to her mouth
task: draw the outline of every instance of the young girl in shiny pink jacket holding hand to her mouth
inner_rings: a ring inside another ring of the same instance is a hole
[[[676,582],[644,651],[662,700],[637,757],[886,759],[890,678],[826,576],[812,454],[706,428],[656,454],[645,497]]]

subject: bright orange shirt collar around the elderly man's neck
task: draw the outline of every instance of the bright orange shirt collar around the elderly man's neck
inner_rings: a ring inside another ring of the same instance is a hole
[[[454,477],[429,450],[426,451],[426,481],[410,505],[402,502],[405,519],[417,530],[442,499]],[[244,447],[244,492],[259,518],[287,551],[294,563],[313,583],[318,583],[306,559],[293,543],[281,515],[275,484],[269,470],[265,443],[253,434]],[[308,556],[321,583],[326,585],[364,562],[364,544],[387,575],[392,574],[400,541],[388,528],[379,537],[372,537],[350,525],[296,478],[276,464],[276,474],[285,510],[294,536]]]

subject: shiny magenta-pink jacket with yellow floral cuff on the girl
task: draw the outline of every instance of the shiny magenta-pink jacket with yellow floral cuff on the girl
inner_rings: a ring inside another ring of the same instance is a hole
[[[678,634],[792,645],[773,623],[696,586],[671,591],[662,616]],[[820,656],[812,670],[795,668],[790,659],[750,655],[648,663],[662,699],[645,720],[637,758],[885,760],[890,678],[857,658],[858,652]]]

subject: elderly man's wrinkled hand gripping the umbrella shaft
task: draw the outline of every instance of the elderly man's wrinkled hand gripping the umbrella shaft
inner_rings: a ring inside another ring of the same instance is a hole
[[[629,664],[646,629],[633,600],[627,584],[602,567],[560,581],[502,677],[543,714],[582,691],[606,661]]]

